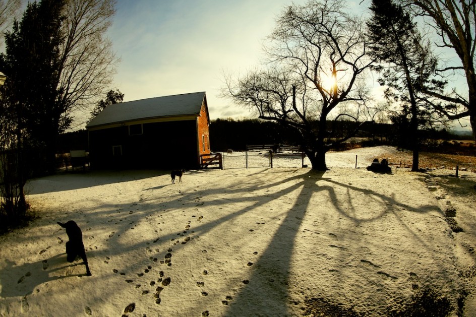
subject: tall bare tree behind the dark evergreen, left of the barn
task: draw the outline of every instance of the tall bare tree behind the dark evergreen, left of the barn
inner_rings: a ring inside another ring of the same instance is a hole
[[[109,87],[118,58],[106,37],[115,14],[115,0],[68,0],[63,25],[59,73],[60,130],[68,128],[72,112],[92,105]]]

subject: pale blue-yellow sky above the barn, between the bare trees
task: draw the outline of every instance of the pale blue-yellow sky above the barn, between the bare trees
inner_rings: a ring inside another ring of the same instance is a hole
[[[124,101],[205,91],[211,119],[248,116],[219,97],[223,72],[237,75],[259,65],[263,40],[291,3],[118,0],[108,32],[121,58],[113,88],[125,94]]]

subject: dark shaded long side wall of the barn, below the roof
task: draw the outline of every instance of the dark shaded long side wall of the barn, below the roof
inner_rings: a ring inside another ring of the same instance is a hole
[[[142,135],[128,125],[89,132],[91,168],[193,169],[199,166],[196,121],[144,123]],[[113,156],[113,146],[122,155]]]

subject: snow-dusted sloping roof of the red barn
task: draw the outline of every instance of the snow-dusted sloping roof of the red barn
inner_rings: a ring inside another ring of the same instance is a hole
[[[115,103],[104,108],[86,128],[144,119],[199,116],[203,103],[206,103],[205,92]]]

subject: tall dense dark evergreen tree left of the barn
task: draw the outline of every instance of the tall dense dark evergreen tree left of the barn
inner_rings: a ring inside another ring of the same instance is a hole
[[[55,145],[65,123],[57,89],[64,5],[64,0],[29,3],[22,20],[5,35],[6,51],[0,54],[0,71],[8,78],[4,113],[16,124],[17,148],[43,149],[44,160],[35,161],[44,161],[40,168],[49,172],[55,169]]]

